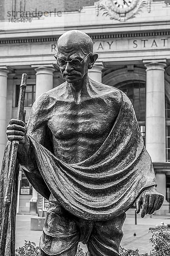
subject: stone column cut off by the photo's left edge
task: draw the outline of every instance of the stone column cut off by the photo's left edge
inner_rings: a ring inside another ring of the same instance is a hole
[[[7,74],[6,66],[0,67],[0,167],[5,149],[6,137],[6,98],[7,98]]]

